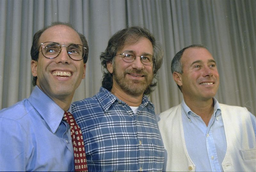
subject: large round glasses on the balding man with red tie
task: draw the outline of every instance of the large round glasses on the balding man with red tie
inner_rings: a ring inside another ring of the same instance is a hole
[[[80,44],[70,44],[69,46],[61,45],[55,42],[45,42],[41,43],[41,51],[45,58],[54,59],[60,52],[61,47],[66,47],[68,56],[73,60],[84,59],[86,47]]]

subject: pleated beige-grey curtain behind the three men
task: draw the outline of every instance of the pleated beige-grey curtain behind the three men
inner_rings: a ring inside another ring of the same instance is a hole
[[[156,113],[178,105],[171,61],[185,46],[206,45],[217,61],[220,103],[256,114],[255,0],[0,0],[0,109],[28,98],[33,90],[30,48],[33,35],[52,21],[70,22],[89,44],[86,78],[74,101],[101,86],[100,52],[116,31],[147,27],[164,47],[158,84],[149,96]]]

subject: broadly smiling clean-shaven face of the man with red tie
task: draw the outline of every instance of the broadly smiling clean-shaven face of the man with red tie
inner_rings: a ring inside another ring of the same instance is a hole
[[[40,36],[39,43],[47,41],[66,46],[72,43],[82,44],[76,31],[65,25],[46,29]],[[37,76],[36,85],[59,105],[59,102],[71,103],[76,88],[85,77],[85,64],[83,60],[71,59],[64,46],[54,59],[45,58],[40,48],[38,61],[31,61],[31,71],[33,76]]]

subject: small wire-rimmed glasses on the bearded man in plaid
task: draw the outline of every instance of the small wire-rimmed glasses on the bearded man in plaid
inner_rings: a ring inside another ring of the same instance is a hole
[[[122,59],[127,62],[127,63],[132,63],[136,59],[136,55],[132,51],[124,51],[121,54],[116,54],[121,55]],[[154,58],[151,54],[143,54],[140,57],[140,61],[144,65],[151,65],[154,61]]]

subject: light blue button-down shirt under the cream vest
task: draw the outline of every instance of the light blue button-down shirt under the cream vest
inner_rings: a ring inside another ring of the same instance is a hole
[[[214,111],[208,126],[202,118],[181,103],[182,123],[189,157],[196,165],[196,171],[223,171],[221,163],[225,157],[227,145],[220,105],[214,100]],[[255,117],[250,113],[254,131]]]

